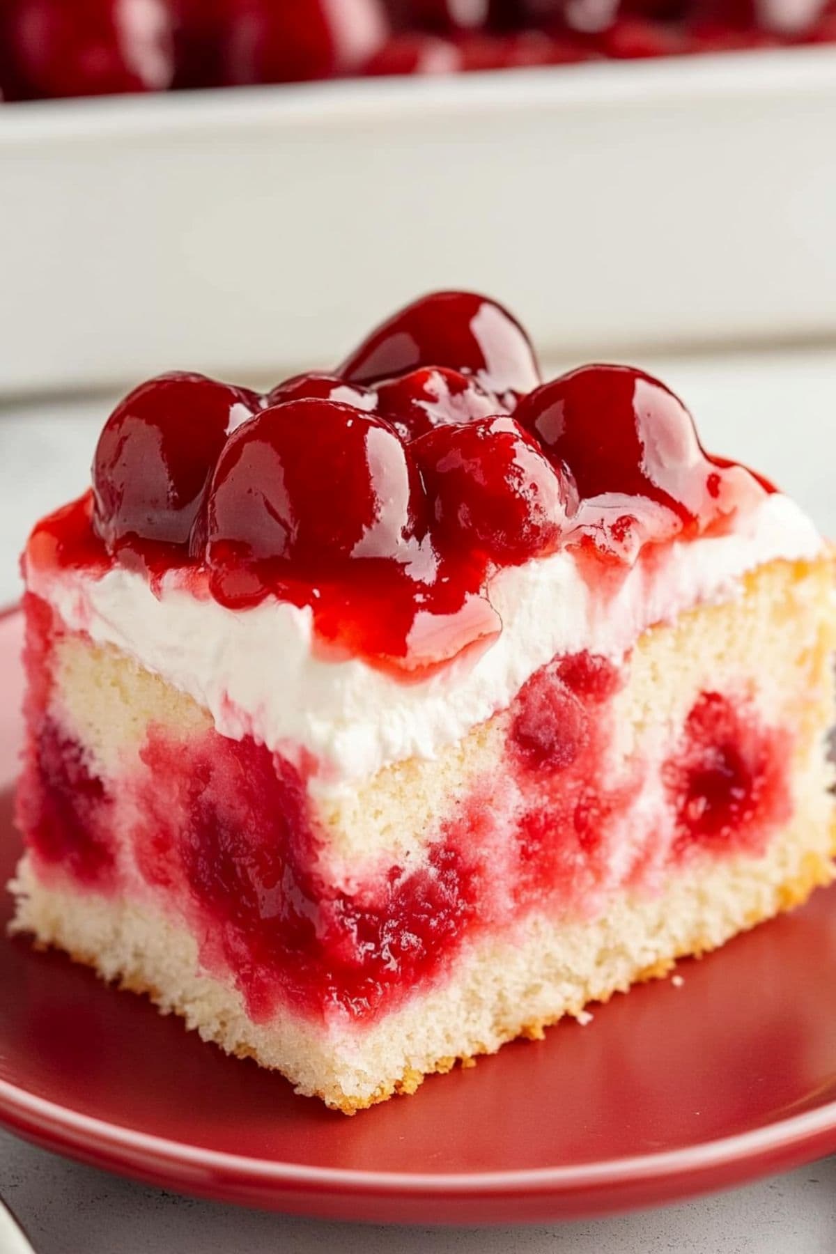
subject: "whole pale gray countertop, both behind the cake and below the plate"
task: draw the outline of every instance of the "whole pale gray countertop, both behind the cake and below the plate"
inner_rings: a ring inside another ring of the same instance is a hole
[[[708,448],[757,464],[836,533],[836,351],[643,364],[683,394]],[[85,485],[107,411],[107,400],[0,410],[0,604],[18,596],[16,554],[31,522]],[[475,1231],[326,1224],[196,1201],[68,1162],[0,1132],[0,1194],[39,1254],[836,1250],[836,1157],[667,1210]]]

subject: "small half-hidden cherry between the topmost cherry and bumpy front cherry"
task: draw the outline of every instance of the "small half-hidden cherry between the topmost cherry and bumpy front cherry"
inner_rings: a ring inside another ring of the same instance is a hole
[[[445,366],[422,366],[409,375],[377,384],[377,413],[402,440],[415,440],[434,426],[470,423],[498,413],[475,379]]]

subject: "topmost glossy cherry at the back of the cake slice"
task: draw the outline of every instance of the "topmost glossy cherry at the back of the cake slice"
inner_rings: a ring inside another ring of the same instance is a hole
[[[351,382],[372,384],[419,366],[450,366],[503,398],[536,387],[534,349],[496,301],[475,292],[432,292],[387,319],[337,370]]]

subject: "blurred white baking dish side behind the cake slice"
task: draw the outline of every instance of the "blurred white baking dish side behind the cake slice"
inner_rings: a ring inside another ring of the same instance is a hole
[[[0,107],[0,391],[328,365],[436,286],[560,357],[836,334],[836,48]]]

